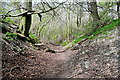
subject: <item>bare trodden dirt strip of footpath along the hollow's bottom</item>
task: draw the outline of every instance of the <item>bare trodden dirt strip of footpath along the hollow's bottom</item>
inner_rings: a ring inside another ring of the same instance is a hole
[[[56,54],[53,58],[53,64],[48,68],[45,77],[51,78],[67,78],[70,77],[72,72],[69,70],[69,64],[67,63],[72,55],[75,55],[77,51],[67,50],[62,53]]]

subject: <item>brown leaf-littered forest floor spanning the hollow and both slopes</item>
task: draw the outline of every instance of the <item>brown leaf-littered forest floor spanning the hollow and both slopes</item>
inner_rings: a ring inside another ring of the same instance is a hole
[[[78,50],[61,53],[28,48],[18,55],[3,42],[3,78],[117,78],[118,32],[114,29],[110,33],[107,38],[85,41]],[[48,46],[54,50],[63,48]]]

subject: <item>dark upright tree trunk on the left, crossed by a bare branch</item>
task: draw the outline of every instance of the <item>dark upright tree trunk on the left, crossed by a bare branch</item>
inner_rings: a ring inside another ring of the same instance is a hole
[[[30,11],[32,10],[32,0],[28,0],[26,2],[26,8]],[[25,36],[29,36],[29,30],[30,30],[30,26],[31,26],[31,20],[32,20],[32,15],[31,14],[27,14],[25,16],[25,29],[24,29],[24,35]]]

